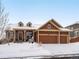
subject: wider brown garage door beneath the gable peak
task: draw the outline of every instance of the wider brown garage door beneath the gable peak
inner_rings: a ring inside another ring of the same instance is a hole
[[[39,41],[42,43],[57,43],[57,32],[51,31],[40,31],[39,32]]]

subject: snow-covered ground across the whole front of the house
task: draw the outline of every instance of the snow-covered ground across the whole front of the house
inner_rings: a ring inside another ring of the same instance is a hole
[[[63,54],[79,54],[79,43],[42,44],[9,43],[0,45],[0,58],[56,56]]]

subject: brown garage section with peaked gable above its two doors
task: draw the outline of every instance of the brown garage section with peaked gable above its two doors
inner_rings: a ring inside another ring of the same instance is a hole
[[[68,43],[69,30],[63,29],[54,20],[50,20],[37,30],[37,42],[41,43]]]

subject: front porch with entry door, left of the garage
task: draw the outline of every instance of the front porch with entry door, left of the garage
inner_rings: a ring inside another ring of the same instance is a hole
[[[34,41],[34,30],[14,30],[13,42]]]

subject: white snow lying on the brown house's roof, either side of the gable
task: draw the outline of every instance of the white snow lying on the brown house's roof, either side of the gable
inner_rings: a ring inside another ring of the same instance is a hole
[[[13,29],[28,29],[28,30],[37,30],[39,29],[41,26],[43,26],[45,23],[47,23],[48,21],[44,21],[41,24],[32,24],[32,27],[28,27],[28,26],[18,26],[18,24],[8,24],[6,30],[13,30]],[[71,31],[67,28],[60,28],[61,31]]]

